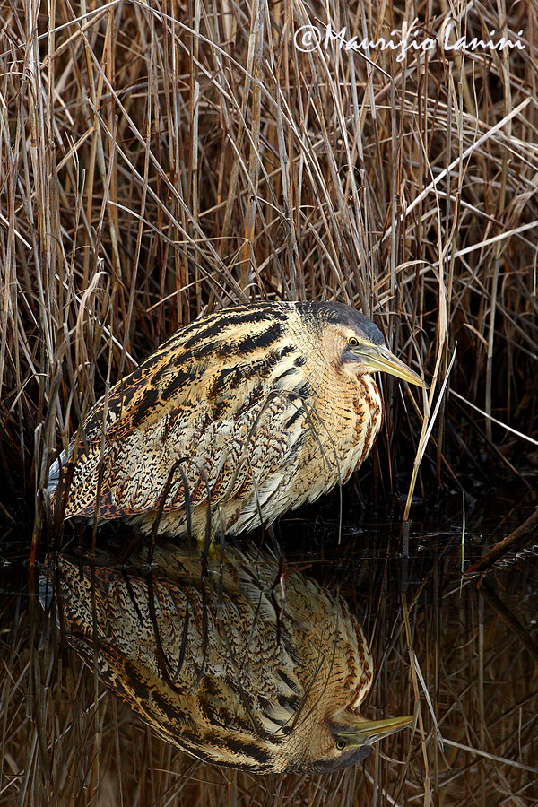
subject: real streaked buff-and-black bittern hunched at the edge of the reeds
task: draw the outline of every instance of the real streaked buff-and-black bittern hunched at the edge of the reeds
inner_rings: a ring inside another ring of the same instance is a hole
[[[70,448],[65,515],[134,516],[147,532],[162,508],[169,534],[189,521],[204,534],[208,508],[213,534],[269,524],[368,455],[377,370],[421,384],[376,325],[337,303],[259,303],[187,325],[91,411]]]

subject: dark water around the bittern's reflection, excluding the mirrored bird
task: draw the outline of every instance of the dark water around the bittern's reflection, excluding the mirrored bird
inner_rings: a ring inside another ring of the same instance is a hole
[[[487,575],[462,575],[532,514],[533,497],[507,491],[467,505],[464,545],[459,496],[415,513],[408,534],[346,507],[340,529],[336,517],[308,512],[234,545],[263,542],[284,576],[343,596],[375,664],[361,713],[413,715],[412,728],[328,776],[260,776],[193,759],[62,639],[35,594],[26,536],[11,531],[2,543],[0,804],[538,804],[538,536]],[[108,551],[117,556],[123,538],[108,534]],[[73,554],[78,537],[65,540]]]

